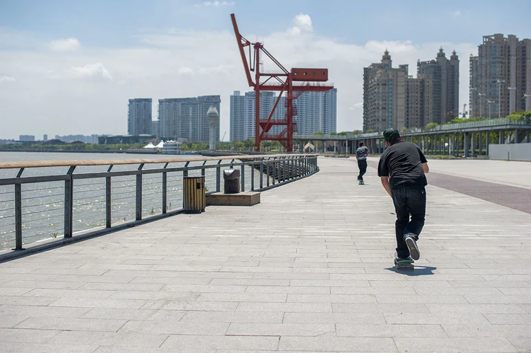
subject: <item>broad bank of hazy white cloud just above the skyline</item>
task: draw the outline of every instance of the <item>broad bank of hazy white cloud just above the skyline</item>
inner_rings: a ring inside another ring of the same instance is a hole
[[[415,74],[417,59],[435,58],[442,44],[447,55],[455,48],[461,58],[460,105],[468,103],[468,56],[476,43],[413,43],[367,41],[362,45],[317,36],[312,19],[299,14],[290,28],[263,33],[265,48],[286,68],[327,67],[338,89],[338,131],[362,127],[363,67],[379,62],[389,50],[393,66],[409,64]],[[240,28],[254,38],[252,28]],[[221,136],[229,131],[230,94],[251,90],[247,85],[234,33],[164,30],[142,32],[129,48],[85,48],[57,56],[49,51],[0,49],[0,67],[17,78],[17,85],[0,85],[0,107],[8,124],[0,138],[31,133],[126,133],[127,99],[221,95]],[[263,69],[277,69],[263,56]],[[90,63],[87,65],[87,63]],[[105,63],[105,66],[103,65]],[[52,80],[50,78],[61,78]],[[76,78],[76,80],[74,80]],[[9,88],[8,88],[9,86]],[[34,104],[26,103],[34,97]],[[351,109],[352,108],[352,109]],[[34,120],[39,116],[38,120]]]

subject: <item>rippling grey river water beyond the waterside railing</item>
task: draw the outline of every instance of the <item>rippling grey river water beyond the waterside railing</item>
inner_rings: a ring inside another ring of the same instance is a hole
[[[128,160],[134,158],[157,160],[178,158],[176,155],[151,155],[132,153],[54,153],[54,152],[0,152],[0,162],[32,160]],[[216,161],[207,164],[215,164]],[[200,165],[195,162],[192,165]],[[169,167],[183,167],[184,163],[171,163]],[[74,174],[107,171],[109,166],[77,167]],[[146,164],[146,169],[164,167],[163,163]],[[138,164],[118,165],[113,171],[135,170]],[[23,177],[36,175],[61,175],[68,167],[31,168],[23,171]],[[19,169],[0,169],[0,179],[14,178]],[[250,189],[250,167],[246,167],[246,189]],[[189,176],[201,175],[201,171],[188,171]],[[265,178],[264,178],[265,180]],[[223,180],[221,180],[221,183]],[[254,173],[254,185],[258,187],[259,173]],[[265,182],[265,181],[264,181]],[[135,175],[113,177],[111,182],[112,225],[135,220]],[[215,169],[206,169],[205,185],[215,191]],[[221,185],[223,188],[223,185]],[[23,243],[63,237],[64,182],[22,184]],[[182,208],[182,172],[168,173],[168,211]],[[162,213],[162,175],[146,174],[142,178],[142,217]],[[74,180],[73,231],[105,228],[105,178]],[[0,250],[14,247],[14,186],[0,186]]]

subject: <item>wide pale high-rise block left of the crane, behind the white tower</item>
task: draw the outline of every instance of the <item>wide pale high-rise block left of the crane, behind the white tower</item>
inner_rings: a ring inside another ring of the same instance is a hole
[[[164,140],[184,138],[208,142],[210,129],[206,113],[212,106],[220,111],[220,103],[220,96],[160,99],[158,136]],[[219,140],[219,121],[216,125],[216,136]]]

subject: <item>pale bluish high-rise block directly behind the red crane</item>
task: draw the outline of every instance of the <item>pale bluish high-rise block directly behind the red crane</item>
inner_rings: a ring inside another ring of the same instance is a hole
[[[241,96],[235,91],[230,96],[230,141],[254,138],[256,126],[256,93],[247,92]],[[260,117],[267,119],[277,100],[274,92],[260,92]],[[294,100],[294,122],[296,135],[312,135],[315,132],[336,132],[337,125],[337,89],[327,92],[304,92]],[[279,104],[274,110],[272,119],[285,120],[285,96],[281,96]],[[279,134],[285,129],[283,125],[276,125],[268,131]]]

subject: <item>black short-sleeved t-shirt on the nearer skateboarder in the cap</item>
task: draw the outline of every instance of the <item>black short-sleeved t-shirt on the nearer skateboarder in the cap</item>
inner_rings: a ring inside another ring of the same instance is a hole
[[[422,163],[426,157],[411,142],[395,142],[387,147],[378,163],[378,176],[390,176],[391,189],[397,186],[425,186],[428,184]]]

